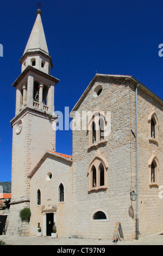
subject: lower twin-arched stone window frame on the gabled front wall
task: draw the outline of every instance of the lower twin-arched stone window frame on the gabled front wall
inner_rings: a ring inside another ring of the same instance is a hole
[[[104,167],[104,185],[100,185],[100,166],[103,164]],[[96,186],[93,186],[93,168],[96,168]],[[96,155],[94,159],[91,161],[89,168],[87,170],[87,174],[89,176],[89,189],[88,192],[95,192],[100,190],[106,190],[108,188],[107,183],[107,170],[108,163],[101,155]]]

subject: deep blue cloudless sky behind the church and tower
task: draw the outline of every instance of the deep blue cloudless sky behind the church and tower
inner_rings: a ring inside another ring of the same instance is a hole
[[[12,129],[15,88],[22,57],[32,31],[34,0],[1,1],[0,57],[1,133],[0,181],[11,180]],[[55,87],[55,111],[70,111],[96,72],[131,75],[163,98],[162,1],[42,0],[42,23]],[[72,132],[57,132],[57,151],[72,154]]]

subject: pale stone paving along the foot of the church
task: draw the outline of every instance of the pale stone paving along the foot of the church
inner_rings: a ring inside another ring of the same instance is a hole
[[[9,236],[1,235],[0,240],[6,245],[55,245],[55,246],[107,246],[115,245],[109,240],[90,240],[90,239],[72,239],[61,238],[52,239],[51,236]],[[116,245],[163,245],[163,231],[154,235],[141,237],[134,241],[118,241]]]

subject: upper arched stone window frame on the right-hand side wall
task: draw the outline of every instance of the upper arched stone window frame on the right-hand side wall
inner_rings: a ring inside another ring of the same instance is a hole
[[[151,129],[151,121],[154,121],[154,124],[155,124],[155,127],[154,127],[154,133],[155,133],[155,136],[154,138],[152,137],[152,129]],[[156,115],[156,112],[155,110],[153,110],[149,115],[148,115],[148,124],[149,124],[149,142],[153,142],[155,144],[158,143],[159,141],[159,121],[158,121],[158,117]]]

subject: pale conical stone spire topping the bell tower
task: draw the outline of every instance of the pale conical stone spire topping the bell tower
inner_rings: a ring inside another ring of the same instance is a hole
[[[27,52],[36,52],[41,51],[49,56],[49,51],[47,47],[47,42],[45,38],[45,33],[43,30],[42,20],[41,20],[41,10],[38,9],[36,21],[34,23],[32,32],[30,34],[29,40],[27,42],[27,46],[23,55]]]

